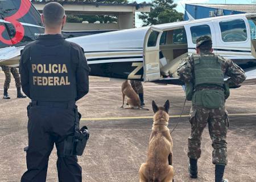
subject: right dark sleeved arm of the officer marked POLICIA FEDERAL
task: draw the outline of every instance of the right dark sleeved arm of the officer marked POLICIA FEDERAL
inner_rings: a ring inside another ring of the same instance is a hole
[[[77,97],[76,101],[84,97],[89,92],[89,72],[90,68],[84,55],[84,50],[79,47],[78,64],[76,69]]]

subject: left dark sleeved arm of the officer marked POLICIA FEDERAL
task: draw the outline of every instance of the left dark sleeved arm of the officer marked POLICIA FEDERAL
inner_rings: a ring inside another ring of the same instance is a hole
[[[29,48],[24,48],[22,51],[22,55],[20,56],[19,60],[19,73],[20,73],[20,82],[22,85],[22,90],[24,94],[28,98],[31,99],[30,97],[30,78],[29,78],[29,71],[28,71],[28,62],[30,60],[30,55],[29,55]]]

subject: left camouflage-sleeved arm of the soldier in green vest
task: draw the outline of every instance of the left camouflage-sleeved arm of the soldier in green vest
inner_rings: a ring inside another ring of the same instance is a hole
[[[188,56],[183,59],[177,68],[177,75],[184,82],[189,82],[192,80],[192,61],[191,57]]]

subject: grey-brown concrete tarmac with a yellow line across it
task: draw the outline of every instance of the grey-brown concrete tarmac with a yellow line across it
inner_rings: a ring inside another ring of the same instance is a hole
[[[174,141],[175,181],[214,181],[212,146],[208,128],[203,134],[199,178],[190,179],[187,170],[187,138],[191,132],[188,114],[191,102],[181,113],[184,92],[181,86],[144,83],[144,100],[150,111],[122,109],[123,80],[90,77],[90,91],[77,102],[82,114],[81,126],[90,130],[84,155],[79,157],[83,181],[138,181],[138,169],[146,161],[148,138],[152,127],[152,100],[163,105],[170,100],[169,128]],[[4,74],[0,72],[0,181],[20,181],[26,171],[27,113],[30,101],[16,98],[15,82],[11,80],[10,100],[2,100]],[[228,131],[228,166],[225,177],[231,182],[256,181],[256,85],[231,90],[226,102],[230,113]],[[57,180],[56,150],[49,158],[47,181]]]

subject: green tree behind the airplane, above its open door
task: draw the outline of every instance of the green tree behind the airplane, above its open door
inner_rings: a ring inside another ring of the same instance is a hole
[[[139,19],[143,20],[143,26],[181,21],[183,13],[177,12],[176,6],[173,0],[154,0],[150,13],[141,13]]]

